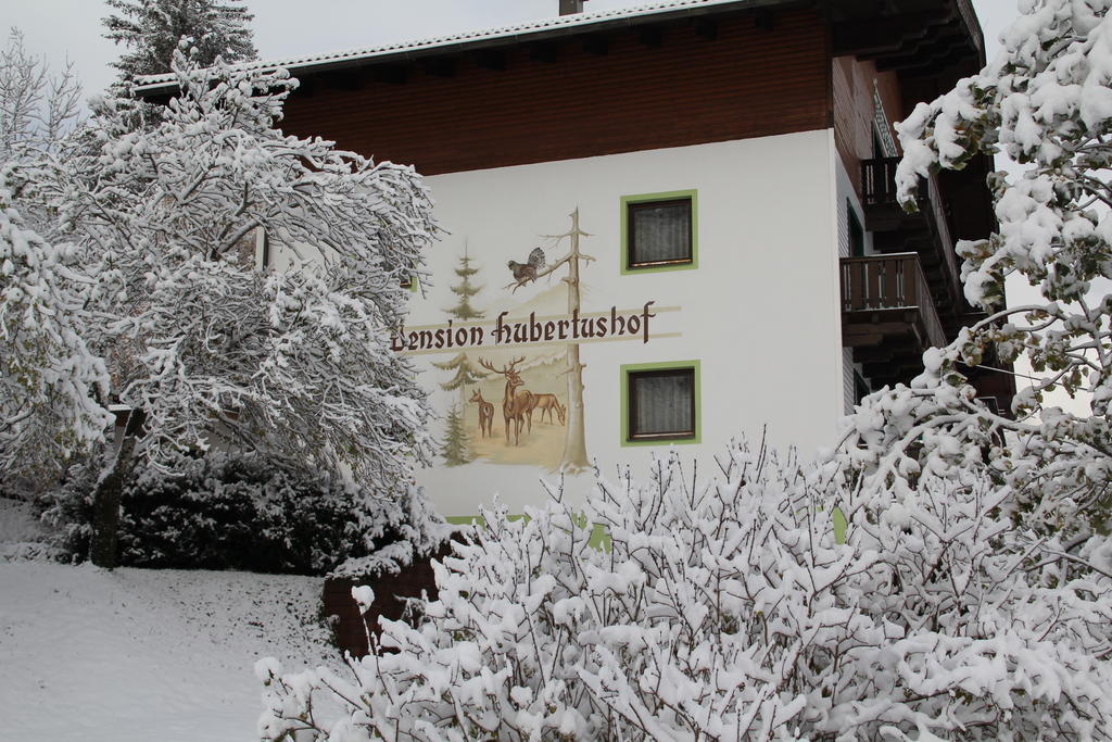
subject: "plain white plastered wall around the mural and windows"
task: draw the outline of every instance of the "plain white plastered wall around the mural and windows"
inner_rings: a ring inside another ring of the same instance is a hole
[[[436,216],[450,235],[431,250],[426,283],[433,285],[415,293],[409,324],[447,320],[445,310],[456,301],[450,286],[458,283],[450,271],[465,240],[485,284],[478,306],[526,301],[548,289],[542,279],[512,296],[503,288],[512,280],[506,261],[524,261],[544,243],[538,235],[566,231],[578,207],[580,226],[592,234],[582,250],[597,258],[583,269],[584,311],[633,309],[647,300],[681,307],[661,313],[652,326],[654,335],[677,337],[580,346],[587,453],[603,471],[613,475],[618,463],[629,463],[635,476],[647,478],[653,453],[666,451],[620,445],[619,366],[691,358],[702,364],[703,443],[676,446],[685,461],[697,457],[709,473],[729,438],[757,441],[765,425],[774,445],[811,455],[831,443],[844,412],[835,159],[832,135],[822,130],[430,177]],[[620,197],[691,188],[698,191],[698,268],[623,276]],[[549,261],[565,246],[549,250]],[[429,368],[450,356],[414,358]],[[455,398],[439,389],[445,376],[429,369],[421,377],[440,410]],[[500,399],[494,402],[500,435]],[[466,414],[474,416],[474,406]],[[557,476],[479,461],[437,465],[418,481],[444,515],[468,515],[494,493],[512,511],[539,503],[538,479]],[[588,482],[572,477],[572,496],[582,496]]]

